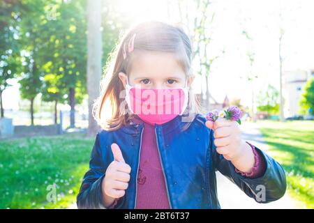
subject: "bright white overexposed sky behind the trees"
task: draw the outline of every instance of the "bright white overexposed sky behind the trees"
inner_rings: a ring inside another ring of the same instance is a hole
[[[177,1],[133,0],[119,1],[121,11],[136,15],[136,21],[159,20],[179,22]],[[186,0],[191,3],[191,0]],[[282,55],[283,71],[314,70],[314,1],[311,0],[216,0],[211,1],[209,13],[215,13],[212,24],[212,42],[209,56],[221,49],[225,54],[211,66],[209,89],[211,95],[223,102],[228,98],[241,98],[243,105],[251,106],[251,84],[245,81],[250,71],[248,50],[255,53],[252,71],[257,75],[253,84],[255,94],[268,84],[279,87],[279,33],[284,30]],[[167,8],[167,6],[169,6]],[[193,17],[192,6],[188,13]],[[281,19],[280,15],[281,14]],[[246,30],[251,40],[242,35]],[[241,78],[242,77],[242,78]],[[196,75],[194,89],[200,93],[204,80]],[[3,92],[5,109],[17,109],[18,86]]]

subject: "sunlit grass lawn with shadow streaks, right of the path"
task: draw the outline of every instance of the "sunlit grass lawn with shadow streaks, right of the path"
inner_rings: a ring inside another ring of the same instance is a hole
[[[283,165],[292,197],[314,208],[314,121],[258,122],[271,155]]]

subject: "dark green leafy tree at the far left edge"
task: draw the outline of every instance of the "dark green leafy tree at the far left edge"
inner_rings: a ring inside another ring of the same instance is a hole
[[[30,1],[27,0],[1,1],[0,48],[3,52],[1,53],[3,61],[1,60],[0,68],[0,95],[2,96],[2,92],[8,86],[7,80],[16,77],[17,73],[21,74],[21,96],[31,101],[30,112],[31,124],[33,125],[33,100],[40,92],[41,87],[40,66],[36,63],[36,56],[42,43],[38,42],[38,36],[41,34],[37,32],[38,16],[32,16],[29,20],[26,20],[26,17],[29,12],[37,12],[37,9],[42,6],[40,4],[42,1],[36,1],[33,7],[29,7],[28,3]],[[33,8],[36,8],[36,10]],[[33,15],[35,14],[33,13]],[[24,29],[25,24],[31,29],[26,31]],[[27,37],[29,38],[21,38],[23,32],[25,35],[28,34]],[[1,116],[3,117],[2,97],[0,98]]]

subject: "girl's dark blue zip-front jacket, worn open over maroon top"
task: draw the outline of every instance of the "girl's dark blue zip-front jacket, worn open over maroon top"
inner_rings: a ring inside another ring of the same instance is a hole
[[[283,197],[286,190],[285,171],[278,162],[256,148],[267,164],[264,175],[260,178],[241,176],[232,162],[216,152],[214,132],[205,126],[205,121],[204,116],[197,114],[186,130],[183,130],[186,122],[182,121],[182,116],[163,125],[155,125],[170,208],[220,208],[216,170],[257,202],[267,203]],[[119,130],[98,132],[89,171],[84,175],[77,195],[78,208],[105,208],[101,182],[107,167],[114,160],[111,151],[113,143],[119,145],[124,160],[131,167],[126,194],[114,208],[135,208],[143,128],[143,123],[130,123]],[[263,189],[264,199],[261,196]]]

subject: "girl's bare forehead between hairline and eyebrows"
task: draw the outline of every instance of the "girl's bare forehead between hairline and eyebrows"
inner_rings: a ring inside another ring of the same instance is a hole
[[[133,55],[130,77],[185,78],[185,72],[173,53],[137,52]]]

